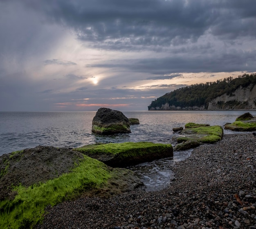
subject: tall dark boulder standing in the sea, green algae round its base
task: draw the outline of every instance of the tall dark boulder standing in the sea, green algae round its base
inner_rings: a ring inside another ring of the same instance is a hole
[[[100,135],[130,133],[130,121],[121,111],[99,108],[92,120],[92,132]]]

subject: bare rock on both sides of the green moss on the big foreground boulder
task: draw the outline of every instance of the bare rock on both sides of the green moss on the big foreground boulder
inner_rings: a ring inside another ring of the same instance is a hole
[[[16,195],[11,187],[28,187],[46,182],[72,171],[75,164],[84,156],[80,152],[53,146],[37,146],[0,157],[0,200],[13,199]],[[123,168],[110,168],[112,177],[101,189],[85,190],[85,195],[109,197],[141,185],[132,171]]]

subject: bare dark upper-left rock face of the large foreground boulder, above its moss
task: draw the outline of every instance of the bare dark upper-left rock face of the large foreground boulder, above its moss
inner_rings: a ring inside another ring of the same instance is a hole
[[[11,186],[22,184],[28,187],[54,179],[68,173],[79,159],[83,159],[81,153],[53,146],[37,146],[2,155],[0,171],[6,168],[6,173],[0,177],[0,200],[13,198],[15,193]]]

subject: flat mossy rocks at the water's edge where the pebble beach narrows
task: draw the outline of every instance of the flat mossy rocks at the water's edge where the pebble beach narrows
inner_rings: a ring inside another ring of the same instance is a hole
[[[223,137],[223,128],[221,126],[187,123],[185,127],[179,136],[173,137],[173,140],[177,141],[174,147],[175,150],[188,150],[204,143],[213,144]]]

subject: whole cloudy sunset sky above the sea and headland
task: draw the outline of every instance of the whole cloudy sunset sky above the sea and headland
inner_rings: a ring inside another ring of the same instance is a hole
[[[256,72],[255,0],[0,0],[0,111],[147,110]]]

